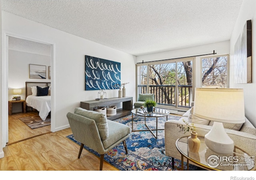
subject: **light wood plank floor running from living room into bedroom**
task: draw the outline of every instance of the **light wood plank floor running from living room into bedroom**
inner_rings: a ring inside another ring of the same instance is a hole
[[[9,116],[9,143],[3,148],[0,170],[99,170],[100,158],[88,150],[84,149],[78,159],[80,147],[66,138],[72,134],[70,128],[54,133],[50,132],[50,126],[32,130],[18,119],[33,113]],[[118,169],[104,161],[103,170]]]

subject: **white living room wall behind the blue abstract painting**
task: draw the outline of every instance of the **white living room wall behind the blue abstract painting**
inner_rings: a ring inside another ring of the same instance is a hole
[[[135,96],[135,56],[50,28],[43,24],[2,11],[3,32],[54,44],[52,92],[54,93],[55,129],[68,128],[66,114],[74,112],[80,101],[98,97],[98,90],[85,91],[85,55],[121,63],[121,82],[126,95]],[[24,82],[25,84],[25,82]],[[106,90],[107,98],[117,97],[118,90]]]

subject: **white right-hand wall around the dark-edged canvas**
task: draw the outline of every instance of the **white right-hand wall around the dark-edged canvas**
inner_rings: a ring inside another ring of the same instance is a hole
[[[234,46],[247,20],[252,20],[252,83],[234,83]],[[256,127],[256,1],[244,0],[230,38],[230,87],[244,89],[245,114],[248,120]]]

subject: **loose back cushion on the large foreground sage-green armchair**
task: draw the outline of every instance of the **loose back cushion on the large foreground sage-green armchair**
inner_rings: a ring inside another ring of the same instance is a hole
[[[101,140],[106,140],[106,138],[108,138],[108,119],[106,114],[102,112],[86,110],[83,108],[76,108],[74,113],[94,120],[99,130]]]

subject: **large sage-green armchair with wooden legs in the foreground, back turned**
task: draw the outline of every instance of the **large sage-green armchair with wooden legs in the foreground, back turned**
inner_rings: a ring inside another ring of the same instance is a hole
[[[123,142],[128,154],[125,140],[129,137],[130,127],[108,120],[102,112],[76,108],[74,113],[66,115],[74,138],[81,143],[78,158],[84,145],[100,154],[100,170],[103,167],[104,154]]]

